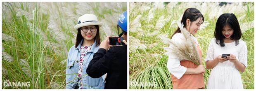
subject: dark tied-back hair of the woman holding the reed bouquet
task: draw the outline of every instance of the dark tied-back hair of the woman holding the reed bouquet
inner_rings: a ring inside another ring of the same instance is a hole
[[[200,17],[203,19],[202,23],[204,23],[204,16],[203,16],[203,14],[201,14],[201,12],[198,9],[188,8],[185,10],[180,22],[184,24],[183,28],[185,28],[185,26],[187,26],[187,24],[186,24],[187,19],[190,19],[190,21],[193,22],[193,21],[196,21]],[[176,33],[180,33],[180,32],[181,32],[180,28],[178,27],[177,30],[173,33],[173,35],[175,35]],[[171,36],[171,38],[173,37],[173,35]]]

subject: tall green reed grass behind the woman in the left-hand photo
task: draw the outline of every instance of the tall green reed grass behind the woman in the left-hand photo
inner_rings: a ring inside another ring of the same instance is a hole
[[[118,35],[117,20],[126,10],[126,2],[2,2],[2,83],[30,83],[2,89],[64,89],[78,17],[95,14],[104,23],[104,40]]]

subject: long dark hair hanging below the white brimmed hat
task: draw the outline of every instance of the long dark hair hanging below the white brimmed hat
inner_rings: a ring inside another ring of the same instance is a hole
[[[97,28],[97,34],[94,37],[94,40],[96,40],[96,46],[100,45],[100,28],[98,25],[95,25],[95,27]],[[83,36],[81,35],[81,28],[77,29],[77,35],[76,35],[76,45],[75,48],[79,45],[79,43],[81,42],[81,40],[83,39]]]

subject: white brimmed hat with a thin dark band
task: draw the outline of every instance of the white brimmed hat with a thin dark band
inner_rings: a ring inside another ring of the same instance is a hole
[[[94,14],[84,14],[78,18],[78,23],[74,26],[75,30],[83,26],[99,25],[102,26],[102,22],[98,21],[97,16]]]

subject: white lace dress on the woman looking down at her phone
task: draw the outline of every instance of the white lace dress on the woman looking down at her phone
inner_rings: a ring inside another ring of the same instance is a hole
[[[239,40],[236,46],[235,42],[225,43],[225,47],[216,44],[215,38],[211,40],[207,50],[205,61],[212,61],[222,54],[233,54],[237,60],[247,67],[247,45],[243,40]],[[243,89],[242,79],[234,63],[225,61],[218,63],[212,70],[208,78],[207,89]]]

